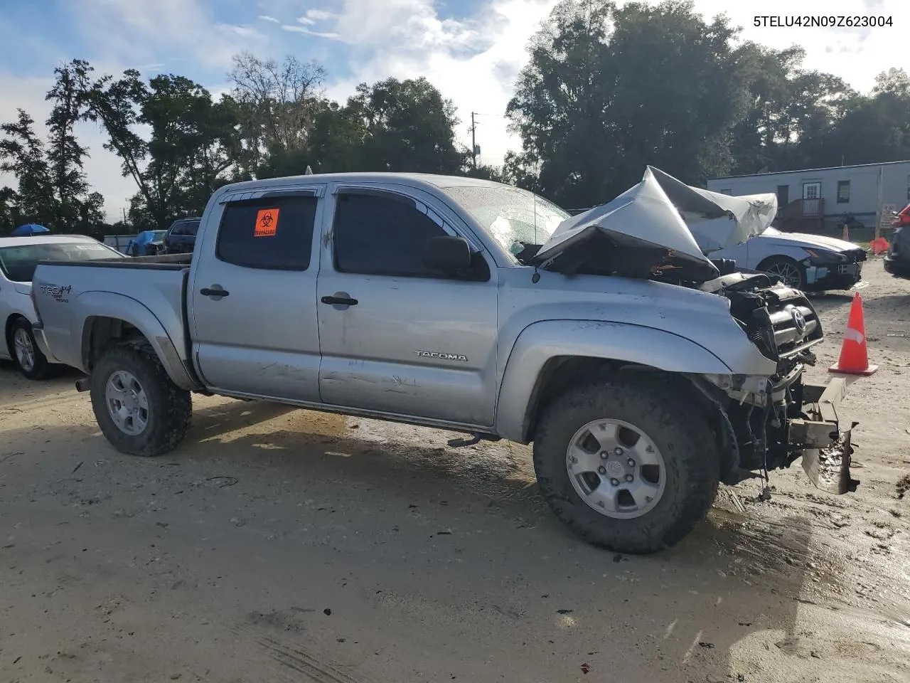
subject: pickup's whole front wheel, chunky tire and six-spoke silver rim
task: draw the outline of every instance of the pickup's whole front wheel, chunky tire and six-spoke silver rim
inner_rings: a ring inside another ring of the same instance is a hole
[[[553,512],[620,553],[653,553],[688,535],[713,504],[720,467],[703,414],[646,380],[564,393],[534,439],[534,469]]]

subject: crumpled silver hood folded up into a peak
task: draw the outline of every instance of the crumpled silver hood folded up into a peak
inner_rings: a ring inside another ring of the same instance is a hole
[[[705,253],[760,234],[776,211],[774,195],[729,197],[649,166],[616,199],[563,220],[531,262],[564,273],[712,280],[719,271]]]

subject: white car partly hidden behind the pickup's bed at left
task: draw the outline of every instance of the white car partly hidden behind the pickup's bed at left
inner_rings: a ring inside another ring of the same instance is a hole
[[[82,235],[0,237],[0,322],[4,325],[0,359],[15,362],[30,380],[43,380],[56,371],[35,343],[37,321],[29,294],[39,260],[125,259],[117,250]]]

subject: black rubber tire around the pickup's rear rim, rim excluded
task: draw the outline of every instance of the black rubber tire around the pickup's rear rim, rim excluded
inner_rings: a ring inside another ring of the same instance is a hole
[[[107,408],[107,380],[118,370],[131,372],[146,392],[148,423],[146,429],[135,436],[122,432]],[[125,343],[109,347],[93,368],[90,383],[95,419],[107,441],[120,453],[166,454],[174,450],[187,433],[193,415],[190,392],[171,381],[147,344]]]

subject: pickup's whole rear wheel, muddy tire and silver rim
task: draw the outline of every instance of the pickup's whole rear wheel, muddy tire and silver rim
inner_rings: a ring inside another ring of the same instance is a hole
[[[177,387],[144,346],[110,347],[91,375],[92,408],[101,432],[120,453],[161,455],[187,433],[190,393]]]

